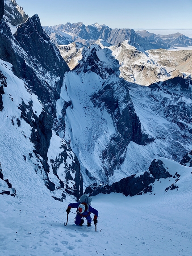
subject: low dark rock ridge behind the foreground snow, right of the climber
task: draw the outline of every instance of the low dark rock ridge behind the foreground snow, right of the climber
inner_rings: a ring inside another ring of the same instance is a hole
[[[125,196],[135,196],[142,193],[152,192],[155,180],[162,178],[166,179],[168,177],[172,177],[172,175],[165,169],[163,161],[154,159],[149,167],[149,171],[128,176],[112,185],[98,185],[97,183],[94,183],[88,186],[84,193],[95,196],[99,193],[109,194],[115,192],[123,193]],[[170,188],[174,189],[177,187],[173,185]]]

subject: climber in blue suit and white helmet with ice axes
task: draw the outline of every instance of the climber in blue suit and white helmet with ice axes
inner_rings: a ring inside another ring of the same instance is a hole
[[[95,214],[93,218],[93,222],[96,225],[98,211],[91,206],[91,201],[92,201],[92,197],[88,197],[87,195],[84,194],[83,196],[80,197],[80,202],[71,203],[68,205],[66,210],[67,214],[70,213],[71,208],[77,208],[77,211],[76,211],[77,215],[75,218],[76,225],[82,226],[84,223],[84,219],[82,218],[84,217],[88,221],[88,227],[91,227],[91,222],[92,222],[91,213]]]

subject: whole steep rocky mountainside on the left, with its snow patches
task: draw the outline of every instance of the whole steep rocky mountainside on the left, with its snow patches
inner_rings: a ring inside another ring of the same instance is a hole
[[[17,6],[15,1],[6,3],[9,7]],[[13,11],[18,17],[15,8]],[[64,126],[64,116],[60,120],[56,116],[56,101],[60,97],[64,74],[69,70],[67,64],[43,32],[37,15],[22,23],[14,36],[7,22],[2,21],[0,45],[0,145],[5,145],[0,159],[4,176],[14,184],[14,173],[17,175],[19,169],[23,176],[25,171],[33,170],[37,174],[35,178],[40,176],[44,180],[54,199],[63,201],[69,193],[79,198],[83,180],[78,159],[71,147],[53,131]],[[69,105],[63,106],[63,113]],[[4,133],[6,119],[9,120],[6,129],[12,130],[7,135]],[[17,130],[21,133],[16,135]],[[11,143],[12,150],[9,150],[6,145],[12,140],[17,143]],[[54,145],[54,154],[50,157],[51,145]],[[13,157],[12,152],[18,154]],[[12,159],[13,166],[4,159]],[[10,168],[12,174],[8,172]],[[31,176],[34,176],[32,172]]]

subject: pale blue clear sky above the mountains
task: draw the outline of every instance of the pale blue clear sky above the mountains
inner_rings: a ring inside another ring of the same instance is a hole
[[[82,21],[110,28],[192,29],[192,0],[16,0],[41,24]]]

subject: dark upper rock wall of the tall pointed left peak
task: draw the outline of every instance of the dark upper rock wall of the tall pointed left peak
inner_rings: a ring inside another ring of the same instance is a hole
[[[27,37],[26,35],[30,36]],[[50,38],[43,32],[38,15],[34,15],[24,24],[21,24],[14,36],[25,52],[30,53],[30,62],[35,64],[38,68],[38,76],[40,76],[40,78],[42,78],[43,74],[44,76],[45,74],[47,76],[44,86],[47,93],[42,93],[42,89],[39,88],[38,81],[36,83],[33,82],[33,89],[37,95],[44,101],[50,101],[48,98],[48,91],[49,88],[52,87],[54,90],[54,97],[55,99],[58,99],[60,88],[63,84],[63,76],[64,73],[68,71],[68,67],[61,58],[58,50],[52,43],[50,43]],[[42,69],[42,72],[40,72],[40,69]],[[27,77],[25,73],[22,73],[21,71],[21,76],[25,76],[24,78],[30,82],[32,80],[31,77]],[[48,80],[49,77],[52,77],[53,80],[51,84],[50,80]]]

